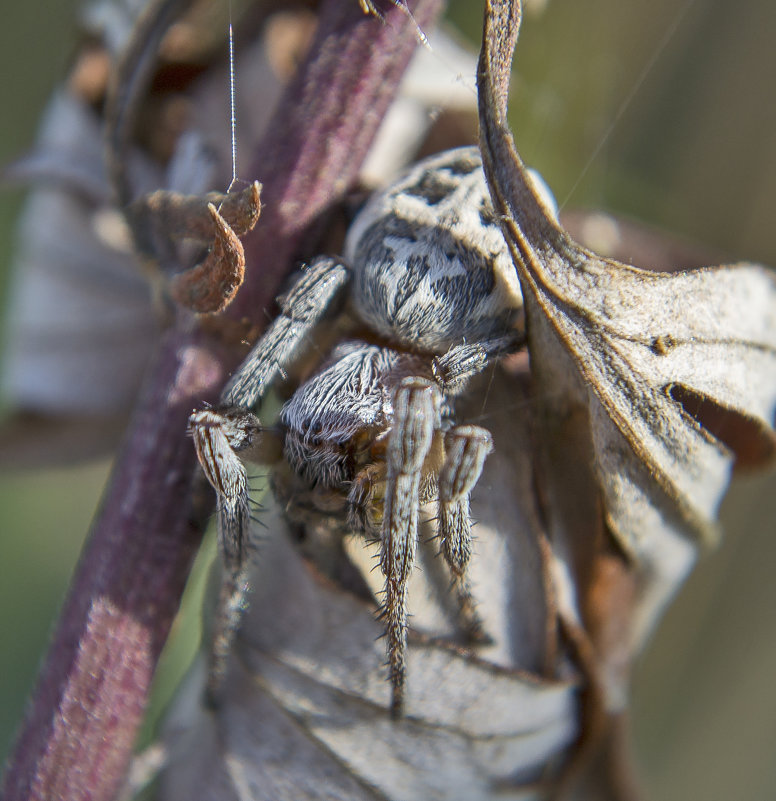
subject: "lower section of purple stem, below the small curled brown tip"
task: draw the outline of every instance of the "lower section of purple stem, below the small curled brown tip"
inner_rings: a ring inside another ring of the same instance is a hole
[[[163,338],[76,568],[6,774],[5,799],[113,797],[142,720],[201,527],[190,510],[192,405],[222,369],[177,330]]]

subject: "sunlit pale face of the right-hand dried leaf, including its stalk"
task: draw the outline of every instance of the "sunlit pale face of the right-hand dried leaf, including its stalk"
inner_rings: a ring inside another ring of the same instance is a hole
[[[535,196],[506,127],[519,4],[494,0],[487,19],[483,160],[526,297],[536,375],[547,397],[563,390],[587,407],[607,524],[626,552],[638,556],[665,526],[709,539],[733,455],[678,388],[749,421],[773,453],[774,276],[743,264],[653,273],[573,242]]]

